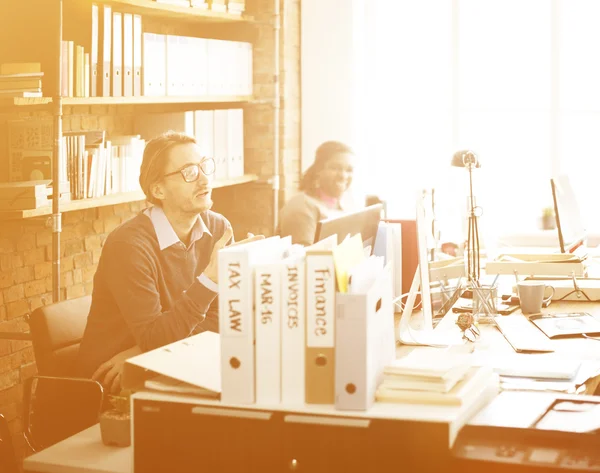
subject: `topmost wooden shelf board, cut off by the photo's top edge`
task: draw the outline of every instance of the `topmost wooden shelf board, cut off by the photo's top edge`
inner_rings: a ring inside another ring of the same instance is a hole
[[[169,5],[168,3],[158,3],[153,0],[105,0],[102,3],[128,8],[129,10],[134,10],[136,13],[157,15],[164,18],[216,23],[249,23],[253,21],[253,18],[247,15],[232,15],[231,13],[202,10],[201,8],[191,6]]]

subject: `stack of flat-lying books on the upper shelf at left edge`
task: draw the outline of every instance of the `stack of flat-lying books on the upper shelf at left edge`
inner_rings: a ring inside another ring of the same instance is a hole
[[[39,63],[0,64],[0,98],[41,97],[43,76]]]

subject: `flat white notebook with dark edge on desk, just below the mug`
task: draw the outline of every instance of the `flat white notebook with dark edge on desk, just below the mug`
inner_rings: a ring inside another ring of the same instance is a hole
[[[548,338],[600,334],[600,321],[587,312],[535,314],[529,320]]]

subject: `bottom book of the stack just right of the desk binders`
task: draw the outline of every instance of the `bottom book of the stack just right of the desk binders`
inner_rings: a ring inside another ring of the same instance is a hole
[[[491,387],[499,387],[498,375],[491,368],[480,366],[469,368],[465,377],[447,393],[390,389],[380,385],[375,398],[379,402],[464,406],[474,402],[483,391]]]

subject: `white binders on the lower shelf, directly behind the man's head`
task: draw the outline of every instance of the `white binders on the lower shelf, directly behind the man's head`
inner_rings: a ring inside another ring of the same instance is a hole
[[[244,111],[190,110],[136,115],[134,130],[145,140],[169,130],[196,138],[202,156],[215,160],[215,179],[244,175]]]

